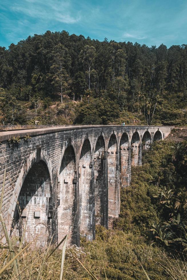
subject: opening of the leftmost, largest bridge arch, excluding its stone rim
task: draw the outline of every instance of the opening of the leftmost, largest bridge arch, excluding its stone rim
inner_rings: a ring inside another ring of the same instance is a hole
[[[47,165],[40,160],[33,164],[21,187],[15,208],[11,235],[31,242],[37,235],[37,246],[44,247],[51,238],[51,179]]]

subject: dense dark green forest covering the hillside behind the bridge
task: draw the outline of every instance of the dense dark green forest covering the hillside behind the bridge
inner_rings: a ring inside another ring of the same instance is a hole
[[[187,45],[47,31],[0,47],[0,124],[185,125]]]

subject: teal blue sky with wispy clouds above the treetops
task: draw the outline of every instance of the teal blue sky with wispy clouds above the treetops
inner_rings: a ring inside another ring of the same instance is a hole
[[[187,1],[1,0],[0,46],[47,30],[149,47],[187,44]]]

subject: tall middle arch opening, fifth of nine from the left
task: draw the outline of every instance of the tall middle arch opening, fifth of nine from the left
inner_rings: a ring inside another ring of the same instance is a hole
[[[116,135],[112,134],[108,143],[108,226],[113,227],[119,214],[120,192],[118,174],[118,146]]]

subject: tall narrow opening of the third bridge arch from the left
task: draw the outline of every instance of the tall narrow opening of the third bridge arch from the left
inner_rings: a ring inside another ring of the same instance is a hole
[[[89,140],[86,139],[79,160],[79,215],[80,233],[86,234],[90,240],[93,238],[94,230],[92,169],[91,146]]]

